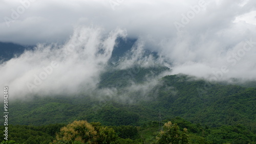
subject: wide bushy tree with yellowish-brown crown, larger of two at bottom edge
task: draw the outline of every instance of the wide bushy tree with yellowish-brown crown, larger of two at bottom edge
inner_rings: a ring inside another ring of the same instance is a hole
[[[117,138],[112,128],[102,127],[100,123],[74,121],[60,129],[53,143],[110,143]]]

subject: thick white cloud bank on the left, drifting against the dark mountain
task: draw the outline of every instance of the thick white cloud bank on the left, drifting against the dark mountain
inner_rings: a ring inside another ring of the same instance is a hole
[[[38,44],[34,51],[0,65],[0,85],[9,86],[14,97],[93,90],[111,57],[116,38],[125,36],[121,29],[103,35],[98,27],[77,28],[63,45]]]

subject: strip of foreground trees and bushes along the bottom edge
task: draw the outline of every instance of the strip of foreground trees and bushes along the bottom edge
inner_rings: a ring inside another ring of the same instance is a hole
[[[74,121],[68,125],[9,126],[12,143],[255,143],[256,135],[242,125],[217,128],[193,124],[181,117],[144,126],[102,126]],[[4,127],[1,126],[1,129]],[[8,129],[9,129],[8,128]],[[4,138],[4,135],[1,135]],[[16,142],[15,142],[16,141]],[[3,141],[2,143],[7,143]]]

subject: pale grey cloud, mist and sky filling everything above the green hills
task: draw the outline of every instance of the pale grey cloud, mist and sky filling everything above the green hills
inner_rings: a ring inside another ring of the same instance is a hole
[[[36,46],[0,65],[0,85],[15,98],[94,92],[118,37],[137,41],[116,69],[160,64],[172,69],[162,77],[256,79],[255,1],[111,2],[1,1],[0,41]],[[146,91],[157,79],[124,91]]]

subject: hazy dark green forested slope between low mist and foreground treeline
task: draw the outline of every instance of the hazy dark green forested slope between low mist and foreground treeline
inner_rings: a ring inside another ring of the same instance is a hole
[[[113,78],[113,81],[118,80],[121,73],[114,76],[117,79]],[[111,78],[109,75],[106,77]],[[138,95],[140,91],[125,93],[129,94],[127,97],[133,103],[82,93],[17,100],[10,103],[13,114],[10,122],[44,125],[87,119],[105,125],[141,125],[147,121],[157,121],[161,111],[164,119],[180,116],[193,123],[212,127],[243,124],[256,130],[256,88],[216,83],[204,89],[205,83],[186,75],[166,76],[154,88],[148,89],[143,98]],[[101,85],[106,85],[105,81]],[[123,94],[122,90],[120,88],[117,93]]]

